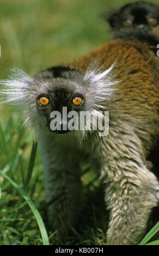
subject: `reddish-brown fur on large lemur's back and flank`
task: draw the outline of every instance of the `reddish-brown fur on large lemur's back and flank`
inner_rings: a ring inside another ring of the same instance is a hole
[[[118,94],[109,112],[114,115],[115,109],[121,109],[131,116],[144,151],[148,153],[159,137],[159,71],[154,56],[146,44],[118,39],[74,59],[69,66],[85,72],[95,59],[103,69],[117,62],[114,74],[122,82],[115,85]]]

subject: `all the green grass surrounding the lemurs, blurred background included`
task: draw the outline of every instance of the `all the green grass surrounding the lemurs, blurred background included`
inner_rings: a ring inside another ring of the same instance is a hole
[[[126,3],[129,1],[120,1],[120,5]],[[7,78],[12,66],[33,75],[109,40],[108,26],[97,17],[107,5],[116,6],[119,1],[2,0],[1,79]],[[0,105],[0,111],[0,245],[42,245],[48,241],[54,245],[57,230],[50,231],[47,223],[39,149],[16,111],[7,105]],[[70,237],[66,234],[65,244],[104,245],[109,213],[102,186],[91,171],[85,171],[82,181],[81,227],[72,228]],[[155,224],[150,218],[148,230]],[[159,244],[157,231],[158,224],[140,244]]]

